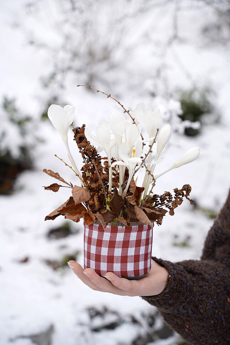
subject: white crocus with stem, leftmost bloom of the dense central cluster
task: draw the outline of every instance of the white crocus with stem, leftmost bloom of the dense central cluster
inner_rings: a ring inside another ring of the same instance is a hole
[[[95,128],[96,135],[93,135],[88,128],[85,128],[85,136],[87,140],[93,145],[97,145],[100,148],[103,148],[106,156],[108,157],[108,166],[109,166],[109,191],[112,191],[112,167],[111,167],[111,133],[108,124],[105,121],[101,121],[99,126]],[[114,140],[112,140],[114,141]],[[113,144],[112,144],[113,146]]]

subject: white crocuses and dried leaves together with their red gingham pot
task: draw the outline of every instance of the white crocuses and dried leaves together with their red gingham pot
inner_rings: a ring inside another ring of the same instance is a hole
[[[154,175],[155,166],[164,159],[161,153],[170,138],[171,126],[165,124],[161,127],[159,109],[145,109],[144,103],[139,103],[131,112],[111,94],[102,93],[114,99],[123,111],[113,111],[109,115],[110,126],[105,121],[100,122],[95,127],[95,134],[85,125],[73,126],[74,140],[84,163],[81,171],[71,155],[67,137],[69,126],[73,125],[75,108],[53,104],[48,109],[48,117],[63,139],[71,166],[58,158],[74,171],[81,186],[68,183],[58,172],[44,169],[46,174],[67,185],[54,183],[45,189],[54,192],[60,187],[72,189],[70,198],[45,220],[60,215],[75,222],[84,218],[85,268],[93,268],[102,277],[113,272],[119,277],[139,279],[151,269],[154,222],[161,225],[167,211],[172,216],[184,198],[193,203],[189,198],[190,185],[175,188],[174,197],[167,191],[156,195],[153,194],[156,180],[166,172],[197,159],[200,149],[190,149],[171,167]],[[147,132],[146,139],[142,128]],[[105,157],[100,156],[102,151]],[[141,168],[145,168],[142,187],[137,186],[135,176]]]

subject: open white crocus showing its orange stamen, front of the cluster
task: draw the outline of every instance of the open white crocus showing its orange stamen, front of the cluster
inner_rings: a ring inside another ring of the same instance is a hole
[[[126,188],[124,190],[124,194],[127,193],[127,190],[128,190],[129,185],[130,185],[130,182],[132,180],[136,165],[138,163],[142,162],[142,159],[140,158],[141,154],[142,154],[142,143],[141,143],[141,141],[138,140],[136,142],[136,145],[133,149],[132,157],[129,157],[129,155],[130,155],[129,152],[130,152],[129,143],[128,142],[122,142],[122,144],[118,148],[118,153],[119,153],[119,157],[121,157],[121,159],[123,161],[117,161],[117,162],[114,162],[112,164],[112,167],[115,165],[119,165],[119,166],[123,165],[123,166],[126,166],[128,168],[128,175],[129,176],[128,176]],[[119,181],[119,185],[121,187],[121,181]]]

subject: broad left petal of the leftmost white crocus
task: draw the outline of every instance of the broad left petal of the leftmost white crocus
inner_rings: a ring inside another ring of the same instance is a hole
[[[61,106],[52,104],[48,109],[48,118],[52,125],[58,130],[63,140],[66,140],[69,128],[66,110]]]

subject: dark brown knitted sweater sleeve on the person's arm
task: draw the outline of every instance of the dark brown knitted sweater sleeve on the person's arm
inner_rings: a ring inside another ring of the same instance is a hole
[[[172,263],[153,258],[169,272],[156,296],[167,324],[193,345],[230,344],[230,191],[205,240],[201,260]]]

